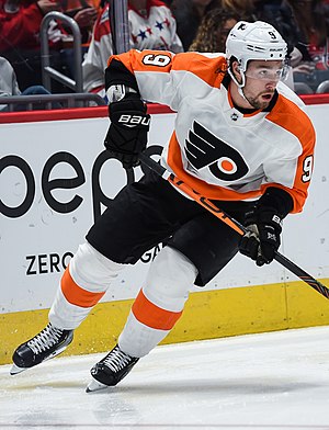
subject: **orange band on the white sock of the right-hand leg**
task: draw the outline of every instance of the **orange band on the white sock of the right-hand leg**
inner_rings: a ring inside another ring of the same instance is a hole
[[[182,312],[170,312],[151,303],[140,290],[132,307],[135,318],[145,326],[157,330],[170,330]]]

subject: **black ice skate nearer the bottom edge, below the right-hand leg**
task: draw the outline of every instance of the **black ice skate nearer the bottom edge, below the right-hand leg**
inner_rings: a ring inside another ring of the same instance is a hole
[[[86,392],[91,393],[116,385],[131,372],[138,360],[123,352],[116,344],[104,359],[91,369],[92,380]]]

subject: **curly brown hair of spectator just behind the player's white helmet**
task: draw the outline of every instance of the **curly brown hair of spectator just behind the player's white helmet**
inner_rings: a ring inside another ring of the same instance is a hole
[[[203,16],[189,50],[225,53],[228,33],[238,21],[239,16],[236,13],[225,11],[223,8],[209,10]]]

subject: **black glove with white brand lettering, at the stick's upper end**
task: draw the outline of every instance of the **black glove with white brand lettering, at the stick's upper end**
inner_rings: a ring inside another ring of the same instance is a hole
[[[138,156],[146,148],[150,122],[146,110],[146,104],[133,94],[109,106],[111,125],[104,145],[125,169],[138,166]]]

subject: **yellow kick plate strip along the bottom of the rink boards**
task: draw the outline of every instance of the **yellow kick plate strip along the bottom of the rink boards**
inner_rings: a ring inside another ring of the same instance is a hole
[[[329,285],[329,279],[324,280]],[[64,353],[107,351],[117,341],[133,301],[101,303],[75,332]],[[47,309],[0,314],[0,364],[47,324]],[[328,301],[300,282],[192,293],[183,316],[161,342],[177,343],[329,325]]]

